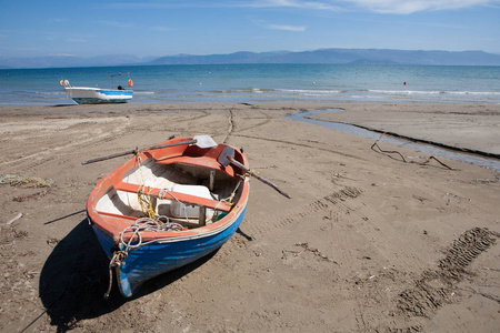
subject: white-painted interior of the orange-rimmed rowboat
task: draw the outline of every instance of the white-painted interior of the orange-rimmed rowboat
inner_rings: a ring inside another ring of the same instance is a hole
[[[150,158],[127,172],[122,184],[111,186],[99,200],[97,210],[104,214],[142,218],[144,212],[141,201],[146,196],[157,215],[167,216],[170,222],[186,228],[197,228],[220,219],[223,215],[221,208],[228,208],[223,200],[236,191],[232,201],[238,201],[239,185],[240,179],[219,170],[184,163],[157,163]],[[149,195],[152,191],[148,193],[148,189],[157,190],[156,194]],[[209,208],[192,201],[180,202],[176,193],[219,203],[213,202]]]

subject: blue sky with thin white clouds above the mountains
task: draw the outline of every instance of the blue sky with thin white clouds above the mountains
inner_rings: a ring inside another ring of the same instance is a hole
[[[500,0],[0,0],[0,57],[322,48],[500,53]]]

